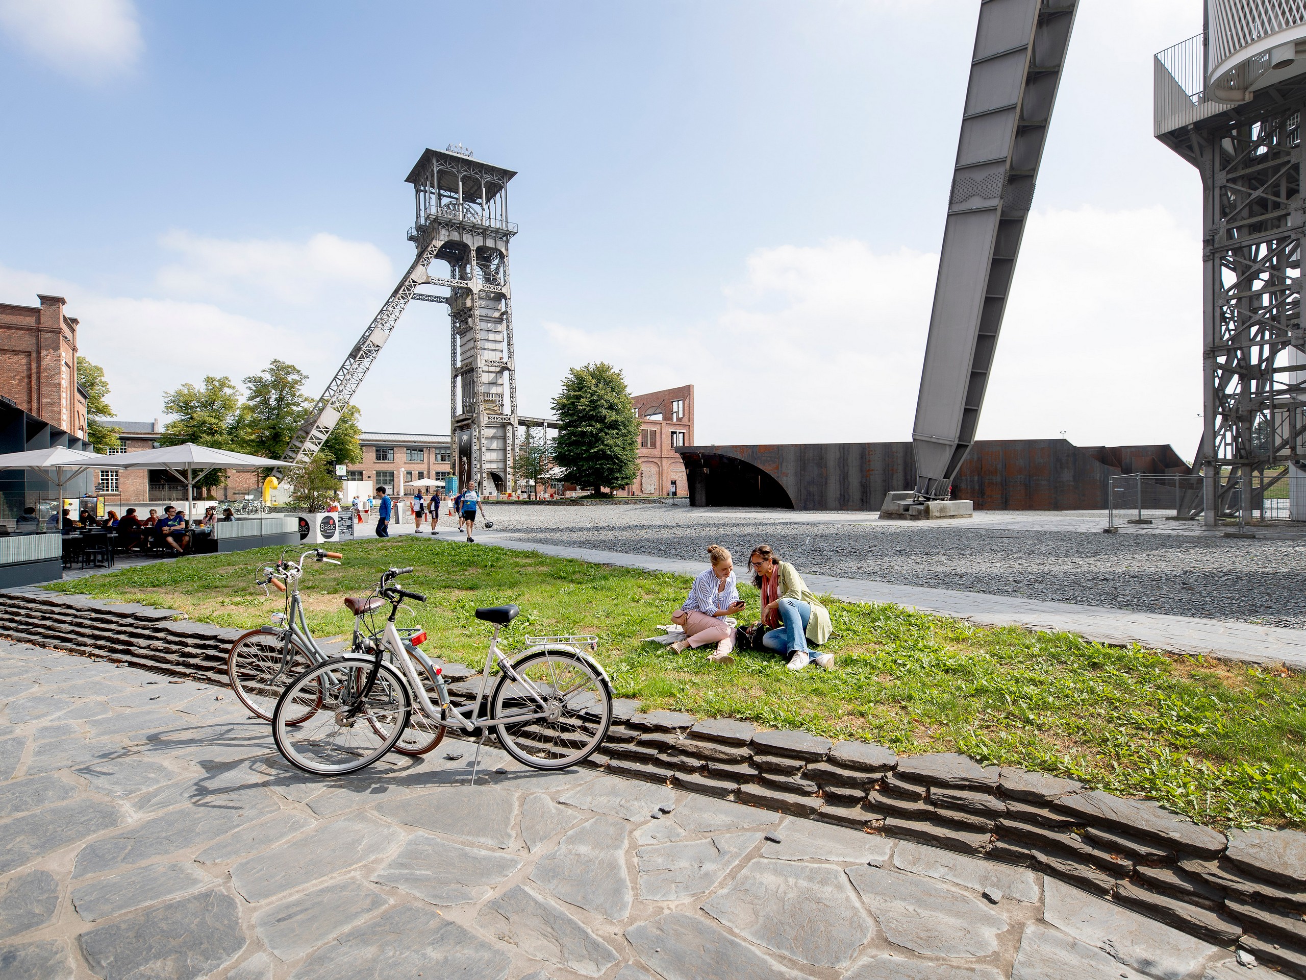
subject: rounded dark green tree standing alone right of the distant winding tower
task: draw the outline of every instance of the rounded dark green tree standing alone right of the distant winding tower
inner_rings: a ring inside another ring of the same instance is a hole
[[[640,423],[626,379],[611,365],[573,367],[554,399],[554,460],[577,486],[598,491],[635,482]]]

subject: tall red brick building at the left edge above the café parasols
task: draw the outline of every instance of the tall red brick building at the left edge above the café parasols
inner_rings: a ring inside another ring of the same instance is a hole
[[[0,396],[43,422],[86,438],[86,393],[77,387],[77,320],[63,297],[40,306],[0,303]]]

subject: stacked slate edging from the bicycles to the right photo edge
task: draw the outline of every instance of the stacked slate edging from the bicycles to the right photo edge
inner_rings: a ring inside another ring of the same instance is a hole
[[[1153,802],[965,755],[899,758],[866,742],[637,708],[618,702],[594,757],[609,772],[1028,865],[1306,977],[1306,834],[1226,838]]]

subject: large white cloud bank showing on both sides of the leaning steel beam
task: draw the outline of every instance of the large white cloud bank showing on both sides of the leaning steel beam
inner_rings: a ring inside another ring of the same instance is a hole
[[[1191,455],[1199,256],[1196,235],[1161,208],[1036,212],[980,438],[1064,430],[1081,446]],[[568,363],[607,359],[635,391],[693,383],[700,443],[906,440],[936,269],[936,255],[855,240],[763,248],[714,321],[545,327]]]

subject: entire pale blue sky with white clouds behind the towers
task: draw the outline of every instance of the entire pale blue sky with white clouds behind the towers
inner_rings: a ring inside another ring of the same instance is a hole
[[[1187,456],[1199,184],[1151,77],[1200,4],[1080,7],[980,435]],[[120,417],[272,357],[316,393],[410,261],[404,176],[461,141],[518,171],[524,412],[602,358],[695,384],[699,442],[908,439],[977,10],[0,0],[0,302],[67,295]],[[448,431],[443,307],[358,401]]]

